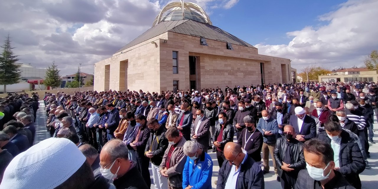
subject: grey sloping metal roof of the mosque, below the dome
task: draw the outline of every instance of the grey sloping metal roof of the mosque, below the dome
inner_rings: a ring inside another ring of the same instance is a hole
[[[216,26],[197,22],[195,20],[172,20],[156,24],[115,53],[121,52],[153,37],[159,36],[167,31],[256,48]],[[200,41],[198,41],[198,44],[200,44]]]

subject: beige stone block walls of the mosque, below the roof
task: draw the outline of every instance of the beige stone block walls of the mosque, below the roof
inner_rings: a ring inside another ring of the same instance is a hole
[[[224,88],[226,85],[250,85],[291,82],[290,60],[258,54],[257,48],[168,31],[95,64],[94,90],[172,90],[178,81],[181,90]],[[178,74],[173,74],[172,51],[178,52]],[[196,75],[189,73],[189,56],[197,57]],[[263,64],[260,64],[263,63]],[[263,65],[261,74],[260,65]]]

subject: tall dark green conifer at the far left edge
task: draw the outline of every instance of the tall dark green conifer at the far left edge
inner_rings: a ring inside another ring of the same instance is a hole
[[[21,64],[15,64],[20,59],[12,51],[14,47],[11,46],[9,34],[1,48],[3,48],[3,52],[0,56],[0,85],[4,85],[4,93],[6,93],[6,85],[20,82],[21,70],[19,68]]]

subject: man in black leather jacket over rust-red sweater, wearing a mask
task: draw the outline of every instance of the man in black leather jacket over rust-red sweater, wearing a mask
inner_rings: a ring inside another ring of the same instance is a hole
[[[219,167],[222,167],[223,161],[225,161],[225,156],[223,155],[223,148],[225,147],[226,143],[232,142],[234,140],[235,130],[234,127],[232,127],[232,125],[227,122],[226,113],[219,113],[218,122],[219,124],[215,127],[213,139],[214,146],[217,150],[216,152],[218,164]]]

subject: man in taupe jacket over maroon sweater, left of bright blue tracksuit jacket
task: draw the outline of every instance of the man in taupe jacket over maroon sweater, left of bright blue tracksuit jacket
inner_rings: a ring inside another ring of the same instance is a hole
[[[165,135],[169,145],[159,167],[160,174],[168,178],[168,189],[182,188],[182,171],[186,163],[183,148],[186,140],[174,127],[168,128]]]

